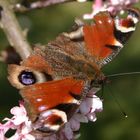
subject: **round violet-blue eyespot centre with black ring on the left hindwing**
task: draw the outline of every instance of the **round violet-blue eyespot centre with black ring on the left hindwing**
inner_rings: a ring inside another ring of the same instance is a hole
[[[35,74],[30,71],[22,71],[18,79],[23,85],[32,85],[37,81]]]

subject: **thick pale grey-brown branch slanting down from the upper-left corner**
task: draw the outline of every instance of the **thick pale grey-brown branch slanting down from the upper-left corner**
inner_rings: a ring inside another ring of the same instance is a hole
[[[32,49],[23,34],[8,0],[0,0],[0,14],[0,26],[4,30],[10,45],[14,47],[22,59],[27,58]]]

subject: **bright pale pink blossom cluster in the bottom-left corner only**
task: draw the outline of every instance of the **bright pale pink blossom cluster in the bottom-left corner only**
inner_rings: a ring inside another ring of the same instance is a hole
[[[5,118],[6,123],[0,124],[0,139],[1,140],[35,140],[35,137],[30,134],[32,131],[31,121],[27,116],[27,112],[22,103],[19,107],[13,107],[11,114],[14,116],[9,119]],[[5,134],[9,129],[16,129],[16,132],[10,138],[6,138]]]

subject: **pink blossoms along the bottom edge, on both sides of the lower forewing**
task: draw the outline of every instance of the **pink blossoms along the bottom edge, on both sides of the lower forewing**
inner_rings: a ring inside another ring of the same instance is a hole
[[[11,109],[13,117],[11,119],[5,118],[4,124],[0,124],[0,140],[71,140],[77,138],[80,135],[76,135],[80,129],[80,123],[88,123],[88,121],[96,120],[96,112],[102,111],[102,101],[94,94],[99,88],[93,88],[82,101],[80,108],[72,116],[72,118],[65,124],[65,126],[57,133],[48,137],[34,134],[32,129],[32,123],[29,121],[27,112],[20,103],[19,106]],[[5,137],[5,133],[9,129],[16,129],[16,132],[10,138]]]

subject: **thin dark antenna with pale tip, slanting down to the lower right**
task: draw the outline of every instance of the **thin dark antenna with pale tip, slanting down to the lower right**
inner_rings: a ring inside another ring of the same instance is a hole
[[[121,106],[121,104],[119,103],[119,101],[117,100],[115,94],[113,94],[113,92],[112,92],[112,90],[111,90],[110,87],[108,87],[108,89],[109,89],[109,91],[110,91],[110,92],[109,92],[110,95],[113,97],[113,99],[115,100],[115,103],[118,105],[118,107],[119,107],[119,109],[120,109],[122,115],[123,115],[125,118],[127,118],[128,116],[127,116],[126,112],[124,111],[124,109],[122,108],[122,106]]]

